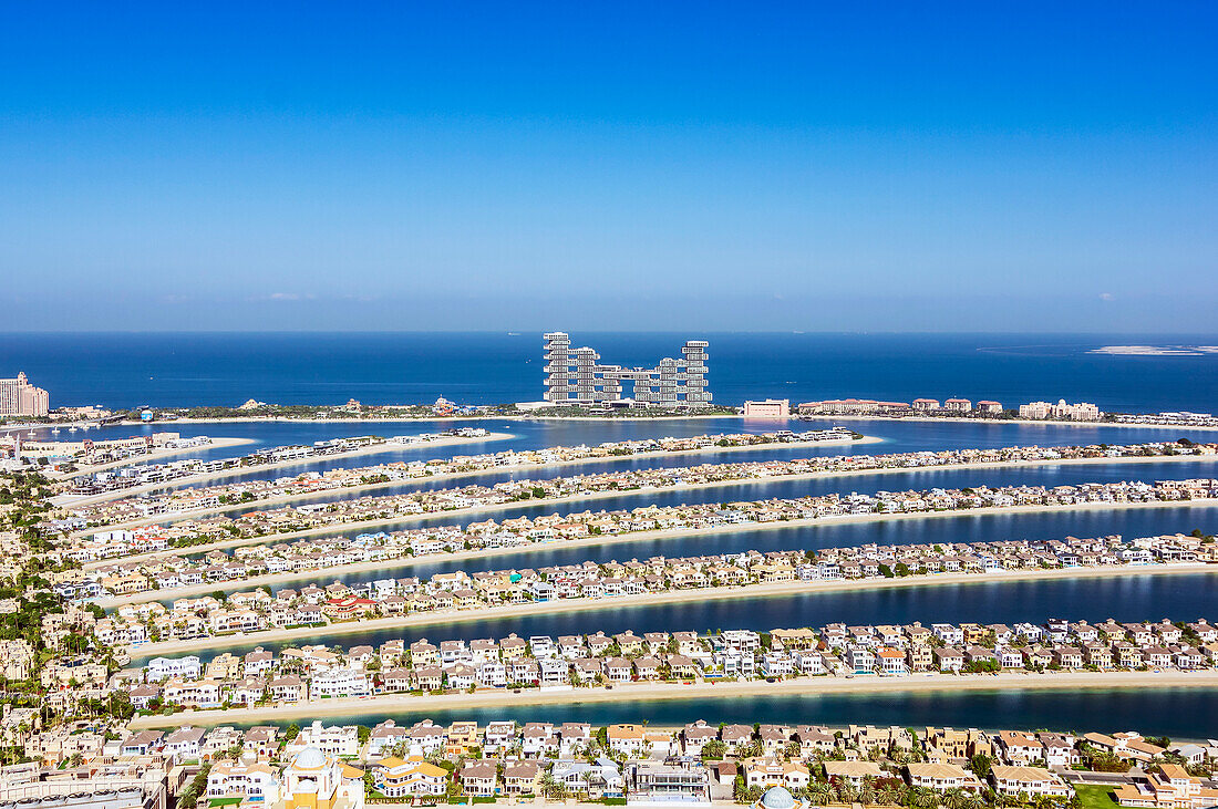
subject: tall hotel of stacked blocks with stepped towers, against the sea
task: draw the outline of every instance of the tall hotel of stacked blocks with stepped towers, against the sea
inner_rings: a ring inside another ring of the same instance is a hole
[[[571,349],[571,338],[560,331],[546,339],[546,401],[555,404],[635,404],[654,408],[709,408],[706,342],[691,339],[681,359],[664,358],[650,369],[602,365],[591,348]],[[622,395],[622,382],[633,387]]]

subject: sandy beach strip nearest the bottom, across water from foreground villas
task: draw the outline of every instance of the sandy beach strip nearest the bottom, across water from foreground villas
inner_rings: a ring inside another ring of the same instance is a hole
[[[1085,689],[1214,689],[1218,672],[1047,672],[1000,674],[911,674],[907,676],[862,675],[851,679],[836,676],[798,678],[778,682],[750,680],[747,682],[630,682],[593,689],[542,691],[524,689],[481,691],[474,693],[393,695],[368,698],[318,700],[285,703],[264,708],[230,708],[229,710],[189,710],[169,717],[136,717],[133,730],[180,727],[183,725],[212,726],[224,724],[290,723],[328,717],[361,714],[391,714],[396,712],[428,713],[469,710],[474,708],[510,708],[513,706],[587,706],[608,702],[649,702],[669,700],[749,698],[787,696],[829,696],[851,693],[931,693],[942,691],[1045,691]],[[505,714],[510,715],[510,714]]]

